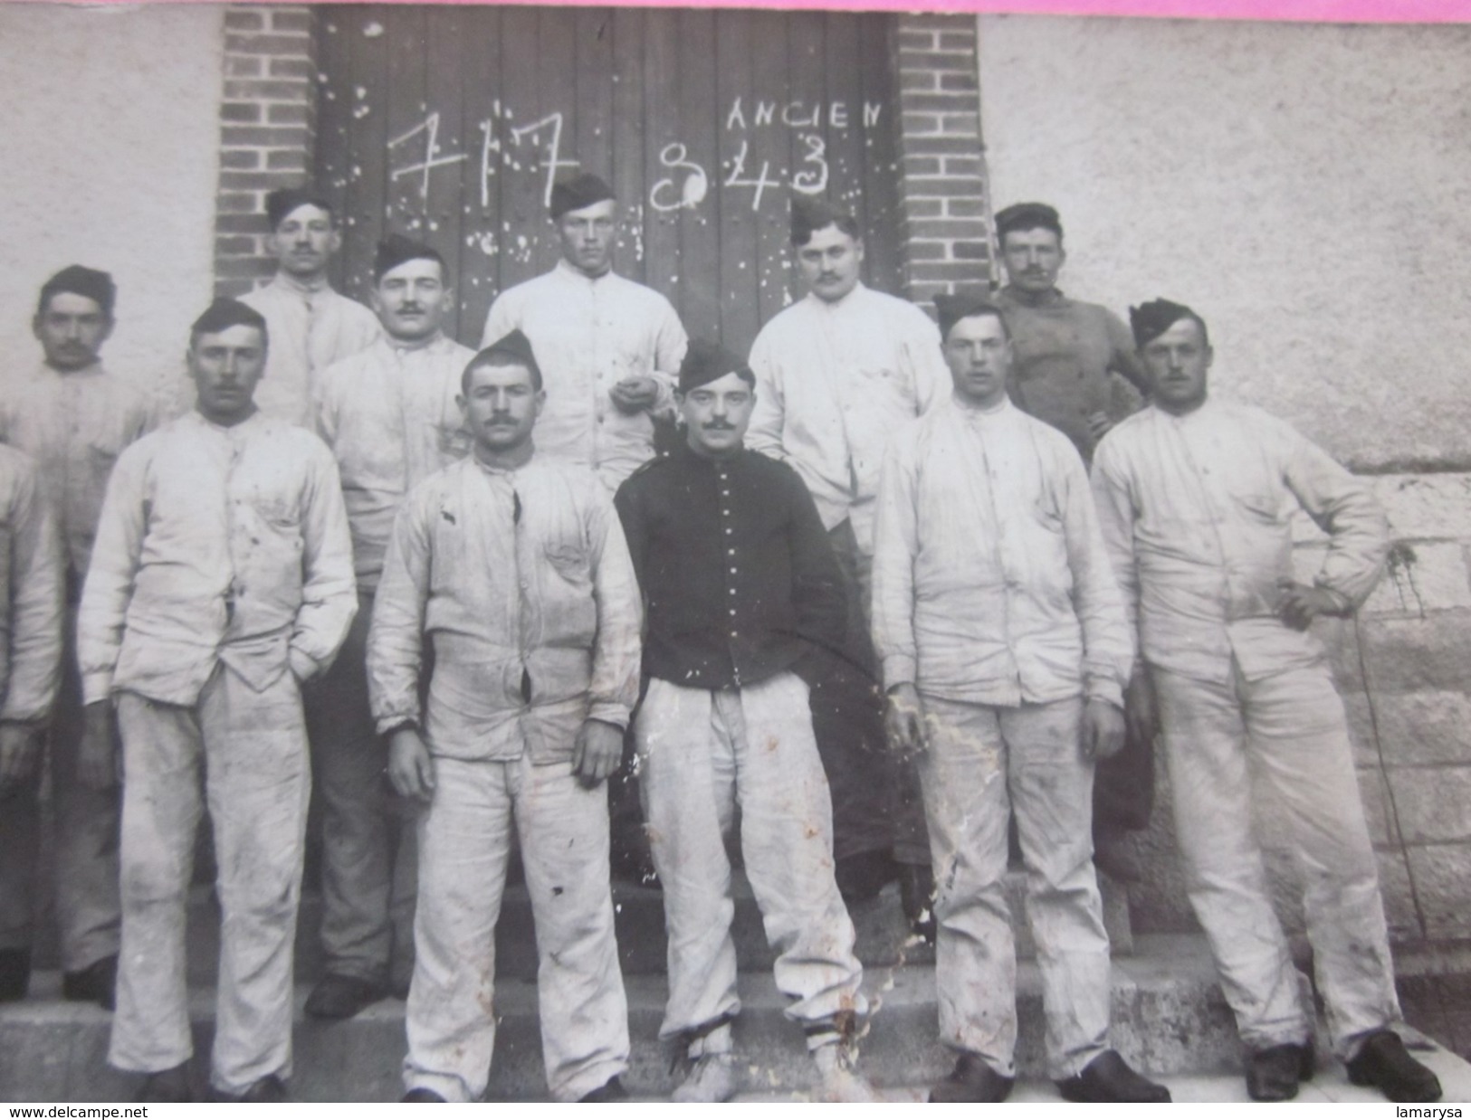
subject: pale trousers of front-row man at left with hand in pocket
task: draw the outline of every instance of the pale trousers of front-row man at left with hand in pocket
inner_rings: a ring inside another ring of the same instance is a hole
[[[221,951],[210,1082],[240,1094],[291,1076],[291,963],[312,792],[296,678],[263,692],[216,666],[193,707],[118,697],[122,951],[107,1060],[156,1073],[187,1061],[184,923],[207,798]]]

